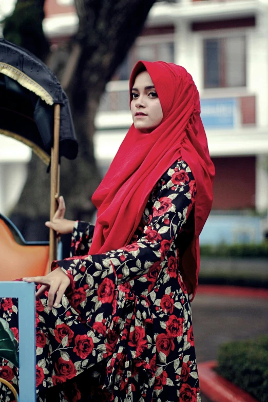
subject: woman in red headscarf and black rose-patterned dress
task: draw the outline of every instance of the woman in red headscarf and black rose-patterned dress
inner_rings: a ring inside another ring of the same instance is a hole
[[[65,220],[61,198],[47,225],[72,231],[72,257],[24,278],[39,284],[40,402],[201,400],[189,295],[214,166],[199,95],[183,67],[140,61],[130,108],[133,125],[92,197],[95,227]]]

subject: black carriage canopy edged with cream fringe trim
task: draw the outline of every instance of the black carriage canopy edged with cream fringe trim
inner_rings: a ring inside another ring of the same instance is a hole
[[[61,105],[60,157],[75,159],[78,143],[59,81],[32,53],[0,39],[0,133],[31,146],[48,164],[56,103]]]

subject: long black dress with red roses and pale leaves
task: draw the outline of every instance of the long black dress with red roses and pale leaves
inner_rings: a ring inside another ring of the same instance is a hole
[[[38,402],[201,401],[179,270],[194,231],[195,196],[193,174],[178,160],[152,189],[127,246],[88,255],[94,226],[76,222],[72,257],[52,264],[71,281],[61,304],[49,312],[47,294],[36,301]],[[16,300],[0,306],[17,336]],[[11,363],[3,360],[0,376],[17,387]],[[7,392],[2,385],[1,400],[12,400]]]

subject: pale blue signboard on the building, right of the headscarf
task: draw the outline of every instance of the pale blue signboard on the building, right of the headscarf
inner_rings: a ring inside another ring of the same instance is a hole
[[[201,118],[205,128],[234,128],[236,98],[201,99]]]

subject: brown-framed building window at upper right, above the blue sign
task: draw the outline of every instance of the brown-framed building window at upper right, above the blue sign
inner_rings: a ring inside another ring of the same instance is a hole
[[[204,87],[243,87],[245,83],[245,37],[204,40]]]

